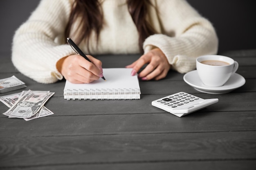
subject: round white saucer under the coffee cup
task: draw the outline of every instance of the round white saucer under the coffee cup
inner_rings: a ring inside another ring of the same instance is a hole
[[[186,83],[194,87],[199,92],[209,93],[209,94],[222,94],[231,92],[238,87],[245,84],[245,78],[240,74],[234,73],[230,76],[229,80],[221,87],[209,87],[204,85],[198,76],[197,70],[186,73],[183,76]]]

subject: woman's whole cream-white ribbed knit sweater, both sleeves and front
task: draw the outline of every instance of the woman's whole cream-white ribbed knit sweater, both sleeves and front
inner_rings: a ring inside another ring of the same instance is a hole
[[[144,41],[144,53],[158,47],[177,72],[195,69],[195,58],[216,54],[218,38],[211,23],[185,0],[151,0],[148,21],[157,31]],[[138,54],[138,32],[126,0],[103,0],[104,26],[96,48],[90,38],[90,54]],[[54,83],[63,76],[56,69],[62,57],[75,54],[65,44],[64,31],[72,0],[42,0],[13,37],[12,62],[26,76],[40,83]],[[76,24],[71,31],[76,31]],[[72,38],[72,37],[71,37]],[[82,42],[79,47],[88,54]],[[130,63],[127,63],[127,65]]]

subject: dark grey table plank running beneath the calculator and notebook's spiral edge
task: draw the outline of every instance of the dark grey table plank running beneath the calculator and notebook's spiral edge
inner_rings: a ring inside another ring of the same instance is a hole
[[[55,95],[55,94],[54,94]],[[195,94],[201,98],[218,98],[219,102],[197,112],[223,111],[256,111],[256,92],[229,94]],[[76,115],[104,115],[108,114],[138,114],[138,113],[166,113],[153,107],[151,102],[166,94],[142,95],[139,100],[66,100],[63,97],[50,98],[45,107],[62,116]],[[115,106],[115,107],[110,107]],[[0,103],[2,113],[9,108]],[[194,114],[193,114],[194,115]],[[0,114],[0,118],[6,116]]]

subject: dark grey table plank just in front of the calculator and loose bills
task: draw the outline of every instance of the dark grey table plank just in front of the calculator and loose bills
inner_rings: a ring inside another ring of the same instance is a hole
[[[54,115],[30,120],[0,118],[2,137],[202,133],[256,131],[255,111],[198,112],[179,118],[170,113],[65,116]],[[22,127],[22,128],[21,128]]]

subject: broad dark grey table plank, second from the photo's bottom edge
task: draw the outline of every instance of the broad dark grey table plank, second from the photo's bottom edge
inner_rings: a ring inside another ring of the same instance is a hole
[[[255,131],[13,136],[3,137],[0,140],[0,146],[3,148],[0,151],[0,167],[256,160]]]

